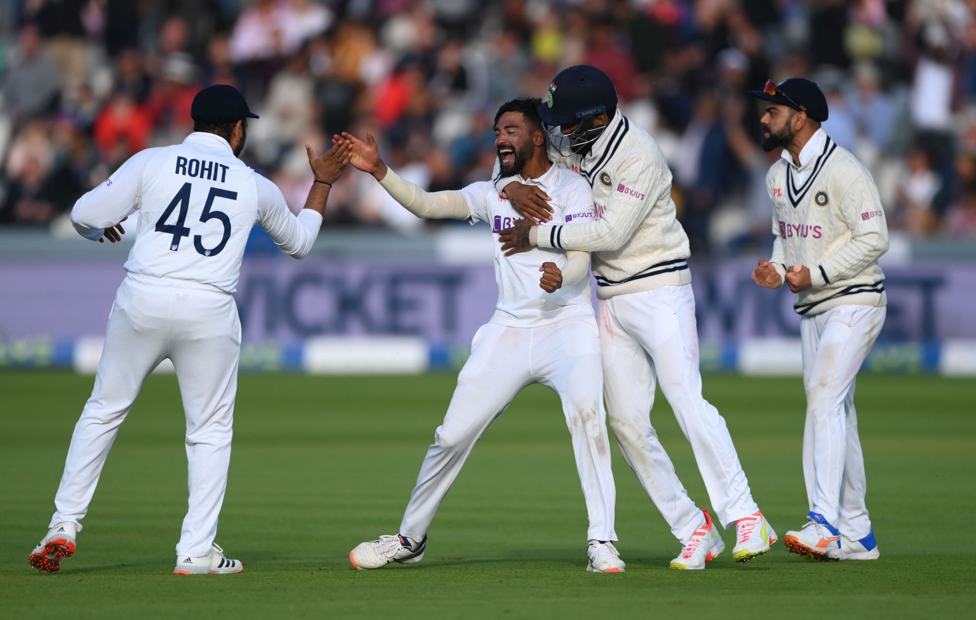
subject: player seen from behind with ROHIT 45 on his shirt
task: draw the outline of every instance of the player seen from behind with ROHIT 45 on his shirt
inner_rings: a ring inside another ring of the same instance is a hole
[[[306,146],[315,175],[298,217],[281,191],[237,155],[247,119],[258,118],[233,87],[211,86],[193,100],[194,131],[180,145],[133,155],[78,199],[71,222],[82,236],[114,242],[120,222],[140,212],[105,330],[95,389],[71,436],[50,530],[30,565],[55,572],[75,552],[102,466],[142,382],[164,359],[176,368],[186,417],[189,501],[176,574],[243,569],[214,543],[224,502],[240,321],[231,294],[251,228],[267,231],[301,259],[318,236],[331,184],[348,163],[346,145],[321,157]]]

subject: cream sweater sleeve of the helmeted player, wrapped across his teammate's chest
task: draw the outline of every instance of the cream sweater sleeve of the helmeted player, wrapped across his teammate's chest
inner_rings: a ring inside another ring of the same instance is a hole
[[[603,217],[589,224],[549,227],[549,234],[536,233],[541,248],[613,251],[624,246],[661,199],[671,199],[671,173],[664,160],[648,157],[625,159],[613,171],[613,178],[627,192],[612,194]]]

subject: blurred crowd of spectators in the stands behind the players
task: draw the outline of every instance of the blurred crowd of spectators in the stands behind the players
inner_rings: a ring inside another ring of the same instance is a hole
[[[696,252],[768,243],[767,78],[809,77],[888,224],[976,238],[976,0],[0,0],[0,226],[64,227],[129,155],[180,142],[202,86],[261,114],[242,158],[292,208],[317,150],[372,131],[430,190],[489,177],[500,103],[588,63],[662,145]],[[348,171],[327,227],[425,224]],[[440,225],[444,226],[444,225]]]

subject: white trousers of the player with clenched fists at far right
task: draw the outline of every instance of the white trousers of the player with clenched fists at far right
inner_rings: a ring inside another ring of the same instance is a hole
[[[864,453],[857,433],[854,384],[884,325],[885,308],[839,306],[800,320],[803,346],[803,478],[810,510],[841,534],[871,531]]]

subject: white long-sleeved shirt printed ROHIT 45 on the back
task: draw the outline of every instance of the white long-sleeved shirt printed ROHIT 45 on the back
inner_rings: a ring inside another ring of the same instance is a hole
[[[233,293],[251,228],[263,227],[283,252],[303,258],[322,216],[295,217],[281,190],[234,156],[214,134],[146,148],[75,203],[71,222],[89,239],[140,210],[125,269],[211,284]],[[123,225],[124,226],[124,225]]]

